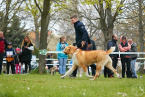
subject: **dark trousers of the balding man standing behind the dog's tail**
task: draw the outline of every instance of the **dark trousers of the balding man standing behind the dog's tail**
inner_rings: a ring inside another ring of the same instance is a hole
[[[112,59],[112,66],[114,69],[116,69],[117,67],[117,62],[118,62],[118,58],[114,57]],[[108,77],[110,77],[111,75],[114,76],[114,73],[110,69],[108,69],[106,66],[104,66],[104,77],[107,77],[107,74],[108,74]]]

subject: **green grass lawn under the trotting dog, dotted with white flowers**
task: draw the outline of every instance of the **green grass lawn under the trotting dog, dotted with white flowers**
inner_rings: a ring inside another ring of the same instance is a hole
[[[60,75],[0,75],[0,97],[145,97],[143,79],[83,76],[60,79]]]

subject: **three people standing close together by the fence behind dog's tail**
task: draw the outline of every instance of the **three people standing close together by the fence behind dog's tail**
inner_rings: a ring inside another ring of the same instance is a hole
[[[119,47],[117,46],[117,40],[118,40],[117,35],[113,34],[112,40],[109,41],[107,48],[110,49],[111,47],[115,46],[116,49],[114,52],[119,52],[119,50],[120,50],[120,52],[137,52],[137,45],[135,43],[133,43],[132,39],[128,39],[128,41],[127,41],[125,36],[121,36]],[[116,69],[119,54],[110,54],[110,57],[113,62],[112,65]],[[125,70],[126,70],[125,65],[127,65],[127,71],[126,71],[127,76],[126,77],[127,78],[137,78],[137,74],[135,71],[135,63],[136,63],[136,59],[137,59],[137,54],[121,54],[120,58],[121,58],[121,63],[122,63],[122,78],[125,78]],[[107,73],[108,73],[109,78],[114,78],[113,72],[111,70],[107,69],[107,67],[105,67],[104,68],[104,77],[107,77]]]

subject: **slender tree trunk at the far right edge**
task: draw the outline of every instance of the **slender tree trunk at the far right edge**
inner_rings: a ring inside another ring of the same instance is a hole
[[[138,4],[139,4],[139,41],[140,41],[140,52],[144,52],[144,33],[143,33],[143,24],[142,24],[142,18],[143,18],[143,13],[142,13],[142,4],[143,4],[143,0],[138,0]],[[140,55],[141,58],[144,57],[143,54]],[[143,60],[141,60],[141,63],[144,63]],[[140,72],[141,73],[145,73],[144,72],[144,68],[143,65],[140,66]]]

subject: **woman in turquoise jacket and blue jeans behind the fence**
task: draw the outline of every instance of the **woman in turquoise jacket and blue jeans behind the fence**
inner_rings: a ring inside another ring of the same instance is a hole
[[[66,37],[62,36],[60,41],[57,43],[56,51],[63,51],[68,44],[66,42]],[[64,53],[58,53],[57,58],[59,61],[59,74],[64,75],[66,71],[66,62],[67,62],[67,55]]]

